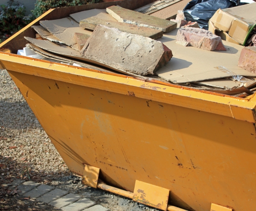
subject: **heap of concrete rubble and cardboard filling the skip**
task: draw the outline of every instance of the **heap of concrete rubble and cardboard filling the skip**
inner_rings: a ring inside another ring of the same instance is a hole
[[[186,20],[182,8],[176,17],[161,17],[158,8],[163,13],[172,8],[172,1],[164,2],[40,21],[32,26],[35,37],[25,37],[28,43],[18,54],[241,98],[252,95],[256,3],[218,9],[208,31]]]

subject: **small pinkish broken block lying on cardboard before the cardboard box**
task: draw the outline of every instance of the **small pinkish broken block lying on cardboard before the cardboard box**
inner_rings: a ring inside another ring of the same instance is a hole
[[[223,45],[221,38],[219,36],[213,35],[204,29],[186,27],[184,29],[179,29],[177,32],[177,42],[183,46],[194,46],[196,48],[205,49],[208,51],[227,50]]]

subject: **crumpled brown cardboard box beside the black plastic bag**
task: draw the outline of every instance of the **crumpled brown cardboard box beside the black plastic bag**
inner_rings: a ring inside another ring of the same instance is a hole
[[[215,27],[229,32],[231,38],[244,45],[250,30],[256,26],[256,3],[218,9],[210,21]]]

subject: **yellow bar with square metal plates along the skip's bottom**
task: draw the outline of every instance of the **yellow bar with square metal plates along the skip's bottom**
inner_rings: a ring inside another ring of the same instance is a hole
[[[114,194],[121,195],[133,199],[135,202],[145,204],[164,211],[187,211],[172,205],[168,205],[170,190],[156,185],[151,185],[146,182],[136,180],[134,192],[124,191],[119,188],[114,188],[110,185],[98,182],[100,168],[90,165],[84,165],[82,176],[82,184],[93,188],[100,188]],[[223,207],[221,205],[211,205],[210,211],[232,211],[232,208]]]

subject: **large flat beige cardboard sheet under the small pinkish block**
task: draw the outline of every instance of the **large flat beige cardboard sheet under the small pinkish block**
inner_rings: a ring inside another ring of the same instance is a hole
[[[177,29],[158,39],[174,52],[172,60],[156,72],[157,75],[165,80],[186,83],[230,77],[227,73],[215,69],[214,67],[216,66],[224,66],[238,75],[248,75],[248,73],[244,72],[246,70],[237,67],[243,46],[223,40],[227,51],[205,51],[204,49],[192,46],[185,47],[175,43],[176,34]],[[255,77],[255,75],[250,76]]]

